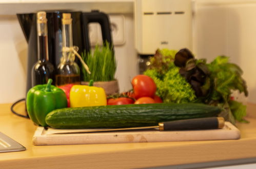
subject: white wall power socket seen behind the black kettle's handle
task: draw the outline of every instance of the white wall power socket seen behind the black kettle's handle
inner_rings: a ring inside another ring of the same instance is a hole
[[[125,44],[125,17],[124,15],[111,14],[109,15],[110,30],[112,35],[113,44],[115,46]],[[98,23],[89,24],[90,44],[102,45],[102,31]]]

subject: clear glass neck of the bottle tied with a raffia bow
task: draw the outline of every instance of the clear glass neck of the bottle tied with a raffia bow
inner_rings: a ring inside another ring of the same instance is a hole
[[[62,45],[64,48],[71,48],[73,46],[72,24],[63,24],[62,28]],[[63,57],[65,61],[74,61],[72,52],[63,51]]]

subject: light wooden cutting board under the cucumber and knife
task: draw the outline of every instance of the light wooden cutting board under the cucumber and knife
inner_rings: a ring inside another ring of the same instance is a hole
[[[136,130],[116,132],[94,132],[76,134],[54,134],[80,130],[56,130],[38,127],[33,136],[34,145],[57,144],[103,144],[132,142],[197,141],[239,139],[240,131],[230,122],[223,129],[190,131]]]

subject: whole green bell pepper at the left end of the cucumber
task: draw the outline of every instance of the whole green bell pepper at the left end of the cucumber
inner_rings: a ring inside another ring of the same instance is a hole
[[[45,117],[55,109],[67,107],[65,92],[51,85],[52,79],[45,85],[37,85],[27,93],[27,111],[30,119],[37,125],[47,126]]]

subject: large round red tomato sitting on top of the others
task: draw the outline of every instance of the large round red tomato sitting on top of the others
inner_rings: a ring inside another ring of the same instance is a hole
[[[154,80],[146,75],[137,75],[132,79],[134,97],[154,97],[156,85]]]

